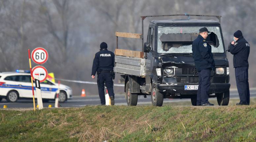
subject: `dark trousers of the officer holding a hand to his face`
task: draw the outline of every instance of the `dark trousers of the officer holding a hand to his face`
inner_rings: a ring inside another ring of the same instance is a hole
[[[250,89],[248,82],[248,67],[236,67],[236,87],[240,98],[240,103],[250,104]]]

